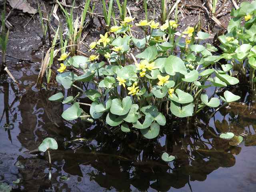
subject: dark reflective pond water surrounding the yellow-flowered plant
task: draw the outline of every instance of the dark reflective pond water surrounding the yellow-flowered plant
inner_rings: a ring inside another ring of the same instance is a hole
[[[39,30],[30,27],[11,32],[8,54],[34,63],[8,58],[19,87],[10,79],[0,84],[0,182],[12,185],[13,191],[28,192],[256,190],[255,103],[246,87],[235,90],[246,105],[223,108],[208,126],[204,112],[197,124],[169,123],[153,141],[109,131],[100,122],[66,122],[60,115],[68,106],[48,101],[59,90],[38,91],[35,87],[41,40]],[[6,123],[10,126],[4,126]],[[242,134],[245,141],[230,146],[217,137],[226,131]],[[46,137],[55,138],[59,146],[51,152],[51,182],[48,155],[28,154]],[[163,162],[163,151],[177,159]],[[12,182],[18,178],[21,182],[14,186]]]

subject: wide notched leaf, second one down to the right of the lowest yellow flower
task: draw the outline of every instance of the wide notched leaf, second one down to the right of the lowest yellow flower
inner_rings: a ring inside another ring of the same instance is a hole
[[[180,117],[180,118],[188,117],[193,115],[194,104],[190,103],[190,104],[184,104],[181,106],[179,103],[172,101],[170,105],[170,110],[172,114],[174,114],[177,117]]]

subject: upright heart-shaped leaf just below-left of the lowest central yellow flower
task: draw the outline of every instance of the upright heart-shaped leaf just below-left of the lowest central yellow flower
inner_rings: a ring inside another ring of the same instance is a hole
[[[132,100],[129,96],[123,98],[122,102],[120,99],[113,99],[110,112],[116,115],[125,115],[129,112],[132,106]]]

